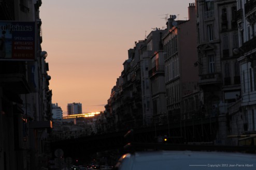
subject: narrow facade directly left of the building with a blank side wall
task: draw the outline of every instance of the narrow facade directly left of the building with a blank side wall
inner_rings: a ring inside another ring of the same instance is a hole
[[[164,73],[164,52],[162,37],[166,34],[166,29],[155,28],[149,33],[146,39],[147,50],[143,51],[141,65],[148,62],[149,69],[141,71],[141,75],[147,75],[149,89],[145,92],[143,101],[144,110],[149,111],[145,116],[149,123],[163,123],[166,120],[166,90],[165,90],[165,73]],[[146,53],[146,55],[144,54]],[[145,66],[146,67],[146,66]],[[144,82],[142,82],[143,85]],[[142,87],[144,88],[144,87]],[[149,102],[148,102],[149,101]]]

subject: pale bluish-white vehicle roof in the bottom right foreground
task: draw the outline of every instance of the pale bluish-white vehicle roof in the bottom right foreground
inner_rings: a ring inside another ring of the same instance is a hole
[[[210,151],[143,151],[124,154],[118,170],[256,169],[256,154]]]

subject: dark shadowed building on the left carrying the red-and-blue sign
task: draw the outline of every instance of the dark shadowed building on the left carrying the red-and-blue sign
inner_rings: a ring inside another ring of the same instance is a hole
[[[52,91],[41,49],[41,4],[0,2],[0,169],[46,167],[51,156]]]

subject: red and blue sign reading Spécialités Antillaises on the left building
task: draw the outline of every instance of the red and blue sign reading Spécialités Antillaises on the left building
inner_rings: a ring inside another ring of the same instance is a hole
[[[35,22],[0,21],[0,60],[35,59]]]

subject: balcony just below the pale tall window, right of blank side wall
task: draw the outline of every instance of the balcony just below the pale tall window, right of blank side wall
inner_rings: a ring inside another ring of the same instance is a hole
[[[219,83],[222,83],[220,73],[201,74],[200,80],[198,82],[198,84],[200,85],[219,84]]]

